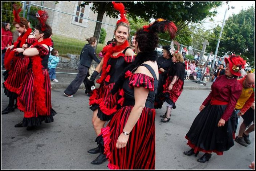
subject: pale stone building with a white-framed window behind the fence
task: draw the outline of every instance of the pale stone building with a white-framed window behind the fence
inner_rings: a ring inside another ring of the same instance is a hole
[[[85,40],[86,38],[93,37],[97,13],[94,13],[90,9],[93,3],[85,5],[84,8],[79,7],[78,5],[82,2],[83,1],[58,1],[58,3],[56,3],[55,1],[34,1],[31,3],[49,8],[44,8],[44,10],[49,14],[48,24],[52,27],[53,34]],[[102,28],[105,28],[107,32],[105,43],[112,39],[116,22],[117,19],[104,15],[102,23],[110,24],[102,24]]]

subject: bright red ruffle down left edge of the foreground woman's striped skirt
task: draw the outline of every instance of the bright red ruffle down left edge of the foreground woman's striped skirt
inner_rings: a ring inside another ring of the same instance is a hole
[[[119,170],[118,166],[115,166],[114,164],[111,164],[111,160],[113,160],[113,155],[110,151],[110,127],[107,126],[105,128],[101,129],[101,134],[103,137],[103,142],[104,142],[104,154],[106,155],[106,158],[109,161],[109,164],[107,165],[108,168],[110,168],[111,170]]]

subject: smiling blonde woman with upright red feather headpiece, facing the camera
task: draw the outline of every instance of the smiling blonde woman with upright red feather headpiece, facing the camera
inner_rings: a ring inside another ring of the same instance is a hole
[[[117,111],[118,93],[114,95],[110,93],[117,81],[119,75],[134,59],[133,50],[129,48],[127,37],[129,36],[129,23],[125,17],[125,7],[122,3],[114,3],[114,8],[121,13],[121,19],[117,21],[114,31],[116,43],[112,43],[103,48],[103,60],[96,67],[94,73],[90,77],[90,81],[95,80],[98,73],[101,72],[101,78],[97,80],[100,84],[98,89],[92,91],[90,101],[90,109],[93,110],[92,123],[97,136],[104,127],[106,121],[109,121]],[[96,139],[99,143],[101,140]],[[100,145],[96,148],[88,150],[91,154],[100,152]],[[106,160],[106,156],[101,153],[93,160],[92,164],[101,164]]]

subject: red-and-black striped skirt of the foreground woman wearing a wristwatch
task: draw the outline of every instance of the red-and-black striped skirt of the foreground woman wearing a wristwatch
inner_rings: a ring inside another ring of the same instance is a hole
[[[132,109],[133,106],[122,107],[107,127],[101,129],[108,167],[122,170],[155,169],[155,109],[145,107],[130,132],[126,147],[115,147]]]

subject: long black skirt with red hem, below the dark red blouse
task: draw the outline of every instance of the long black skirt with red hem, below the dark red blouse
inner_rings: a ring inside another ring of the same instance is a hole
[[[234,145],[236,114],[224,126],[218,127],[218,122],[224,113],[226,105],[207,105],[195,118],[188,133],[188,145],[194,151],[216,152],[222,155]]]

